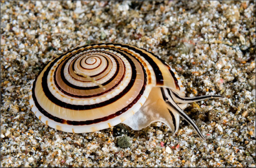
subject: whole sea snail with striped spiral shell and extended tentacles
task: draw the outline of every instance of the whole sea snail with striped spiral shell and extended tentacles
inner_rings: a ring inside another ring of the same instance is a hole
[[[76,47],[49,62],[30,90],[30,106],[41,122],[57,130],[83,133],[119,123],[140,130],[154,122],[173,133],[188,103],[219,95],[186,98],[175,70],[152,52],[120,43]]]

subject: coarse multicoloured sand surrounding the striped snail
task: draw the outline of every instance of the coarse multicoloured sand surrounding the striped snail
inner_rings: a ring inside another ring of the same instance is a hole
[[[250,1],[1,1],[1,166],[255,166],[255,4]],[[38,71],[75,46],[143,47],[176,69],[186,96],[219,94],[185,112],[176,135],[162,123],[92,133],[52,129],[35,117]],[[127,148],[117,141],[131,138]]]

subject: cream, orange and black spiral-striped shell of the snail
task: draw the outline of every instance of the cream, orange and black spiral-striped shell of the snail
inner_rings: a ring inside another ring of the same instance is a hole
[[[41,70],[30,91],[32,111],[66,132],[109,128],[138,111],[152,87],[163,85],[159,64],[165,66],[152,53],[131,45],[77,47]]]

